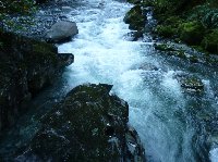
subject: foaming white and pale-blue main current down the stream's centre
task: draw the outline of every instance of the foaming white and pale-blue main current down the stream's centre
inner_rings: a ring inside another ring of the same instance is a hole
[[[87,7],[68,15],[77,23],[80,32],[71,42],[59,46],[59,52],[75,55],[75,62],[64,73],[70,87],[84,83],[112,84],[112,92],[130,104],[130,123],[146,146],[148,161],[195,161],[192,151],[195,130],[183,120],[189,103],[174,78],[177,71],[135,67],[145,62],[159,64],[149,57],[148,48],[154,42],[125,39],[130,30],[123,16],[130,4],[110,0],[99,7],[100,2],[87,1]]]

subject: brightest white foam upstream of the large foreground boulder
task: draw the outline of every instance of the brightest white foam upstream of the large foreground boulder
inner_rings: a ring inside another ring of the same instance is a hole
[[[72,17],[77,21],[80,34],[73,41],[59,46],[60,52],[75,54],[75,63],[69,66],[68,72],[75,72],[78,78],[83,75],[83,82],[117,83],[133,63],[142,60],[134,50],[137,46],[123,39],[130,32],[123,23],[123,14],[130,5],[119,2],[109,4],[105,4],[104,10],[86,10],[85,15]],[[116,5],[116,11],[110,10],[111,5]],[[72,80],[72,74],[66,75],[71,75],[68,79]]]

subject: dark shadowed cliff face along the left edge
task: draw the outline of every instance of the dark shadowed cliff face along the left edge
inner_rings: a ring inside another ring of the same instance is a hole
[[[64,59],[52,45],[11,33],[0,32],[0,42],[1,130],[15,122],[34,95],[53,82]],[[72,54],[68,58],[72,63]]]

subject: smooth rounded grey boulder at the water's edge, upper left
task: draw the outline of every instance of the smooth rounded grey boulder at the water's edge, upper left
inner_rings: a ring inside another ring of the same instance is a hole
[[[63,42],[78,34],[75,22],[59,21],[46,32],[45,39],[48,42]]]

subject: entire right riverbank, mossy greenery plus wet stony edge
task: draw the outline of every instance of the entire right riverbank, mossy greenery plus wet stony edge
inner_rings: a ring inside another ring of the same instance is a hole
[[[191,63],[218,65],[217,2],[185,0],[129,0],[129,2],[134,3],[134,7],[126,13],[124,22],[130,24],[131,29],[141,33],[141,36],[149,32],[154,38],[162,38],[161,46],[170,46],[168,51],[178,51],[172,53],[173,57],[185,59]],[[157,24],[148,29],[146,15],[150,9]],[[173,45],[166,40],[173,41]],[[186,43],[192,51],[187,48],[178,48],[178,43]],[[166,51],[166,48],[164,50]]]

